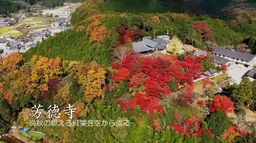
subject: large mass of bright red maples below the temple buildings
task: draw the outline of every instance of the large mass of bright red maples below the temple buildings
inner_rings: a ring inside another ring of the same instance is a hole
[[[199,64],[202,59],[204,56],[193,55],[187,56],[184,61],[178,61],[173,55],[164,54],[152,58],[132,53],[122,62],[113,63],[112,67],[118,73],[111,77],[116,83],[128,81],[131,89],[141,89],[143,92],[137,93],[130,101],[118,99],[123,112],[139,105],[143,111],[149,110],[151,115],[154,110],[161,113],[162,107],[159,106],[160,100],[157,97],[164,98],[166,94],[172,93],[170,82],[177,87],[178,84],[186,83],[186,92],[179,95],[179,98],[184,99],[184,104],[190,103],[193,79],[203,74],[203,67]]]

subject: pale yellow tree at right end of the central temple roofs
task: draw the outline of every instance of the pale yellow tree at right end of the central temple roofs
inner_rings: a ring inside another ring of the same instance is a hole
[[[176,55],[180,49],[182,49],[182,42],[177,36],[173,36],[172,41],[168,44],[167,51],[170,54]]]

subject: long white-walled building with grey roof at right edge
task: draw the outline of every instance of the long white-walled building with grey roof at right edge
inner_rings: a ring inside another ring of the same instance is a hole
[[[220,56],[221,58],[231,61],[238,66],[244,66],[251,69],[256,65],[256,56],[248,53],[243,53],[239,51],[233,51],[230,49],[216,48],[212,51],[212,54]]]

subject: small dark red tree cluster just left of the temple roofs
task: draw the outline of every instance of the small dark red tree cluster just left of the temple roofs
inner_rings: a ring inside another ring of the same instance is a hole
[[[137,28],[128,29],[126,26],[117,28],[119,43],[125,44],[129,41],[138,41],[144,36],[143,31]]]

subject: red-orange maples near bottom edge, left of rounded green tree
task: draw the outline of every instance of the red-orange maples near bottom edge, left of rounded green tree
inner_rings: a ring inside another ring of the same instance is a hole
[[[176,125],[172,125],[169,127],[173,127],[177,132],[182,133],[184,135],[196,135],[197,137],[202,137],[203,135],[203,120],[198,119],[197,117],[191,116],[188,119],[180,122],[178,117],[178,112],[176,112],[175,119]],[[177,125],[178,124],[178,125]],[[211,134],[210,129],[206,129],[205,132]]]

